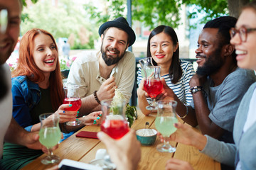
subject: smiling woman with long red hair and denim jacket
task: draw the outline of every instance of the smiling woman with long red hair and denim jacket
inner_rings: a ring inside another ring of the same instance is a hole
[[[21,127],[30,132],[38,131],[41,125],[39,115],[53,113],[60,115],[60,129],[63,132],[75,130],[65,126],[65,122],[75,120],[78,113],[65,111],[70,106],[62,104],[63,82],[58,47],[53,35],[41,29],[29,30],[23,35],[18,65],[12,77],[13,116]],[[97,123],[100,113],[90,113],[80,120],[85,125],[92,125]],[[40,150],[5,143],[0,167],[20,169],[41,154]]]

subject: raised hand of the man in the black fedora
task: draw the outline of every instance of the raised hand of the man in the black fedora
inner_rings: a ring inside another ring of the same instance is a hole
[[[97,98],[99,98],[100,101],[114,97],[114,91],[116,88],[114,80],[114,77],[110,77],[104,83],[102,83],[100,89],[97,91]]]

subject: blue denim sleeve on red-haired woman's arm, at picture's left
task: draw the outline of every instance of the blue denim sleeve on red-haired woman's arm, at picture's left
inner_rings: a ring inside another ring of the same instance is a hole
[[[13,116],[18,125],[26,128],[31,125],[31,115],[29,113],[29,107],[26,104],[27,94],[21,87],[21,83],[16,80],[11,80],[11,92],[13,95]]]

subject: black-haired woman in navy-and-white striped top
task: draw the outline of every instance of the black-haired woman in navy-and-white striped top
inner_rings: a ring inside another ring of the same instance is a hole
[[[149,35],[146,57],[153,58],[153,64],[161,66],[161,77],[166,84],[174,91],[174,94],[182,103],[189,105],[192,101],[192,94],[188,92],[189,81],[195,71],[190,62],[179,59],[178,38],[175,30],[169,26],[158,26],[151,31]],[[142,69],[139,68],[137,90],[139,108],[142,113],[149,115],[150,111],[146,110],[149,106],[145,97],[142,81]]]

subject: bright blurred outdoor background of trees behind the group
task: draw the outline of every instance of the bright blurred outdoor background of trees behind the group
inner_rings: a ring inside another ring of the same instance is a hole
[[[176,30],[180,57],[195,58],[198,35],[204,23],[218,16],[238,16],[238,8],[250,0],[22,0],[22,35],[31,28],[53,34],[58,43],[60,69],[69,69],[76,57],[100,49],[98,28],[119,16],[131,18],[137,40],[132,45],[135,57],[146,57],[150,31],[159,25]],[[18,47],[7,61],[16,67]],[[68,44],[68,55],[67,47]],[[196,67],[196,65],[195,65]]]

